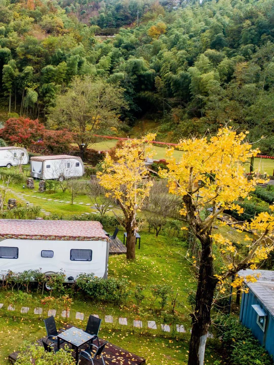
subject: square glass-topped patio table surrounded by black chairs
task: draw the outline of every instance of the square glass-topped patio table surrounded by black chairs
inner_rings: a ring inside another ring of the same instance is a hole
[[[64,332],[59,333],[57,336],[57,348],[60,349],[60,339],[67,343],[71,343],[75,347],[75,360],[77,364],[79,347],[84,345],[84,343],[89,342],[93,337],[93,335],[90,335],[79,328],[71,327]]]

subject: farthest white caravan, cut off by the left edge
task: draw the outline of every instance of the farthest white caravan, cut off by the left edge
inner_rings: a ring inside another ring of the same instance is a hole
[[[28,153],[22,147],[0,147],[0,166],[27,165]]]

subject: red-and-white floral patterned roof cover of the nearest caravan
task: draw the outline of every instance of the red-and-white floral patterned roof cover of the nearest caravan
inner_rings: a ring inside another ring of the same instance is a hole
[[[0,237],[107,241],[100,222],[79,220],[0,219]]]

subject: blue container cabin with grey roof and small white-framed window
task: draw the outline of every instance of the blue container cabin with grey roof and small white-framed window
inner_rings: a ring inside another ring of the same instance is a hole
[[[245,281],[249,291],[242,295],[240,321],[250,328],[274,360],[274,271],[248,269],[238,274],[260,275],[255,283]]]

